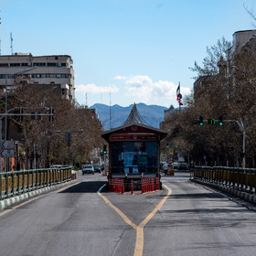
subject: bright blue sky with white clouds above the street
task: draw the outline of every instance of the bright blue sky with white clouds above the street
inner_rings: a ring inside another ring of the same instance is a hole
[[[178,107],[207,47],[256,28],[244,6],[256,0],[0,0],[1,54],[12,33],[14,52],[71,56],[81,105]]]

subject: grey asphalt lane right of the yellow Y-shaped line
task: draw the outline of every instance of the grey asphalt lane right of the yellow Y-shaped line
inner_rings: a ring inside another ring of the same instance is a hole
[[[144,255],[255,255],[255,211],[187,177],[163,178],[173,192],[144,229]]]

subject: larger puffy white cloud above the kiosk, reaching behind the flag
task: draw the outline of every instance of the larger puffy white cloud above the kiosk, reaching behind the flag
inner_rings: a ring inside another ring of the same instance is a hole
[[[176,105],[177,84],[172,81],[153,81],[148,76],[138,75],[125,80],[126,97],[133,101],[144,102],[146,104],[157,104],[170,106]],[[183,97],[190,93],[190,88],[181,86]]]

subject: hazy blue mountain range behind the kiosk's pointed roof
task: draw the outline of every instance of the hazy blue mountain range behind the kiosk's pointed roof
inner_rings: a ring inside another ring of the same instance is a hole
[[[140,112],[147,124],[159,128],[159,123],[164,120],[164,111],[167,110],[167,108],[157,105],[146,105],[144,103],[138,103],[136,106],[138,112]],[[112,128],[121,126],[128,118],[132,108],[133,104],[128,107],[113,105],[111,107]],[[110,106],[96,103],[91,106],[90,109],[96,109],[104,129],[110,129]]]

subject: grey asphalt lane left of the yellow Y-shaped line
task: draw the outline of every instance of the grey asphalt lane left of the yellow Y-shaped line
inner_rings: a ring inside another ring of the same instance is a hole
[[[134,230],[97,195],[101,185],[100,175],[84,176],[77,186],[1,216],[1,255],[117,255],[120,247],[129,252]]]

